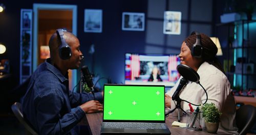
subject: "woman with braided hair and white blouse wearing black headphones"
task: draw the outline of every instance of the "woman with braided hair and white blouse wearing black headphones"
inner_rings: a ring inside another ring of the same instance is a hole
[[[179,58],[181,64],[190,66],[199,74],[199,81],[208,94],[207,103],[212,102],[221,110],[220,128],[236,131],[237,128],[234,127],[236,125],[233,125],[236,114],[235,102],[231,94],[230,83],[216,57],[217,52],[216,44],[207,35],[193,32],[182,42]],[[165,106],[171,109],[176,107],[172,95],[179,85],[180,79],[165,94]],[[206,93],[203,88],[196,82],[191,81],[187,82],[179,96],[193,104],[203,104],[206,101]],[[196,106],[193,107],[196,108]],[[188,103],[182,101],[181,108],[189,109]],[[174,111],[173,115],[177,115],[177,110]]]

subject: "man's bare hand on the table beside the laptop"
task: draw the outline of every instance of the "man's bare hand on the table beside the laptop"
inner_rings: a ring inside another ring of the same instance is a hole
[[[103,111],[103,106],[99,101],[91,100],[80,105],[82,110],[86,113],[97,113]]]

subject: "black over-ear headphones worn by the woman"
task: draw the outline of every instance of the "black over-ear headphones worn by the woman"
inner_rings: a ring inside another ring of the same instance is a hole
[[[192,32],[190,35],[193,35],[196,33],[197,39],[196,43],[193,44],[193,47],[191,49],[191,55],[197,58],[201,58],[203,54],[203,47],[201,46],[201,36],[199,32]]]

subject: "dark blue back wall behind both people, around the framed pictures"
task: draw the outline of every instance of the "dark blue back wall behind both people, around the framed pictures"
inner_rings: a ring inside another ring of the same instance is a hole
[[[85,63],[89,65],[90,71],[101,77],[110,77],[113,83],[124,82],[124,53],[178,54],[183,39],[191,31],[198,30],[214,36],[215,24],[219,22],[218,18],[222,13],[219,10],[222,7],[221,1],[213,0],[44,0],[15,1],[15,4],[14,1],[2,0],[1,3],[6,6],[6,10],[0,13],[0,42],[6,44],[7,52],[5,56],[0,56],[0,59],[10,60],[13,86],[19,82],[20,9],[33,9],[33,3],[77,5],[77,36],[86,58]],[[84,33],[84,9],[102,9],[102,33]],[[206,9],[210,11],[210,15],[205,12]],[[162,33],[162,11],[165,10],[182,12],[181,35]],[[145,13],[145,30],[122,31],[122,12]],[[163,41],[158,43],[159,40]],[[91,44],[95,45],[94,56],[89,54]]]

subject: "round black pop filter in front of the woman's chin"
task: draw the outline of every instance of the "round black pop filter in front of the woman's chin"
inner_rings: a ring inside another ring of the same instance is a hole
[[[200,80],[200,76],[197,74],[197,72],[187,65],[179,64],[177,66],[177,71],[181,76],[189,81],[198,82]]]

